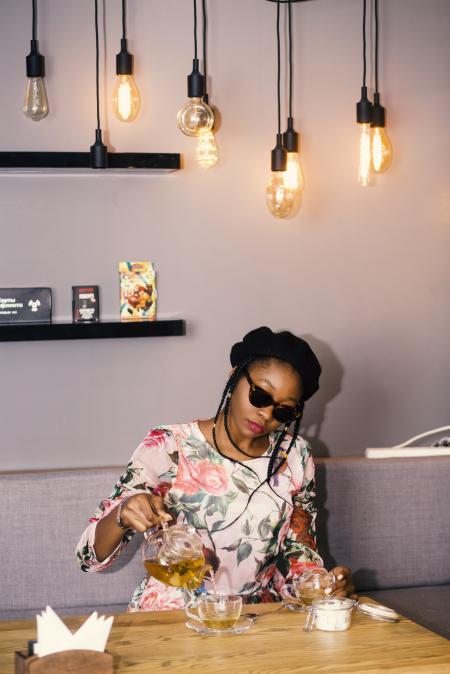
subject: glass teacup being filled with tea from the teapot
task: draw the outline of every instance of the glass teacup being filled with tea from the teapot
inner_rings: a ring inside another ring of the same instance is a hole
[[[197,609],[194,613],[191,609]],[[186,606],[186,615],[210,630],[228,630],[241,616],[242,597],[235,594],[201,594]]]

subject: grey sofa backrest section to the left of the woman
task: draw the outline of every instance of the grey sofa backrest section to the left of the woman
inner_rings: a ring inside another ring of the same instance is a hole
[[[139,540],[101,573],[84,573],[75,547],[121,468],[0,474],[0,610],[127,604],[145,570]]]

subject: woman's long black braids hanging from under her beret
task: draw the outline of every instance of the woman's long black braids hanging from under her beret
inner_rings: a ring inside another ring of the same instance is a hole
[[[228,436],[229,441],[231,442],[233,447],[235,447],[235,449],[237,449],[242,454],[245,454],[245,456],[248,456],[252,459],[255,458],[253,455],[247,454],[246,452],[244,452],[233,440],[233,438],[231,436],[231,433],[230,433],[230,430],[229,430],[229,426],[228,426],[228,414],[229,414],[229,410],[230,410],[231,396],[232,396],[238,382],[242,378],[245,370],[247,369],[247,367],[251,363],[264,362],[264,361],[267,361],[267,360],[272,360],[272,357],[252,356],[252,357],[248,358],[247,360],[245,360],[244,362],[240,363],[239,365],[237,365],[235,367],[235,369],[231,373],[230,378],[228,379],[227,383],[225,384],[225,388],[224,388],[224,391],[223,391],[223,394],[222,394],[222,398],[220,400],[219,407],[218,407],[216,415],[214,417],[213,432],[212,432],[213,433],[214,445],[219,452],[220,452],[220,449],[219,449],[218,444],[217,444],[215,427],[216,427],[217,421],[219,419],[220,413],[223,410],[224,426],[225,426],[225,431],[226,431],[226,434]],[[280,360],[280,359],[278,358],[276,360]],[[298,404],[298,414],[297,414],[297,417],[296,417],[295,422],[294,422],[294,426],[293,426],[293,429],[292,429],[292,436],[291,436],[291,440],[290,440],[290,443],[289,443],[289,446],[288,446],[287,450],[281,450],[281,446],[282,446],[283,442],[285,440],[287,440],[287,438],[288,438],[288,435],[289,435],[288,434],[288,428],[289,428],[288,425],[286,425],[284,427],[284,429],[279,433],[279,435],[277,437],[277,440],[275,442],[275,446],[274,446],[274,448],[272,450],[272,453],[270,455],[269,464],[267,466],[266,481],[268,483],[277,474],[277,472],[280,470],[281,466],[283,465],[283,463],[287,459],[287,457],[289,455],[289,452],[291,451],[292,447],[295,444],[295,441],[298,437],[299,430],[300,430],[300,423],[301,423],[304,405],[305,404],[304,404],[303,400],[301,400]]]

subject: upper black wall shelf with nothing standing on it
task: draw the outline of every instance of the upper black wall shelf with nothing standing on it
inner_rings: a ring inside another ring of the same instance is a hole
[[[108,167],[91,168],[89,152],[0,152],[1,173],[83,175],[169,173],[181,167],[177,153],[109,152]]]

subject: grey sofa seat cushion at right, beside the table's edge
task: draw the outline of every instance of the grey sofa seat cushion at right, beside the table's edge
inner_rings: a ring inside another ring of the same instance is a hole
[[[367,594],[405,618],[450,639],[450,585],[377,590]]]

